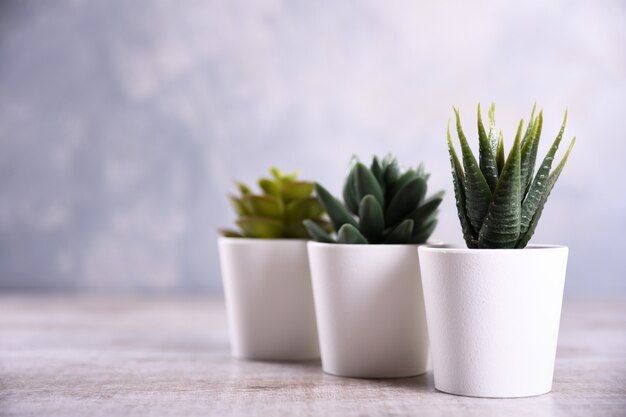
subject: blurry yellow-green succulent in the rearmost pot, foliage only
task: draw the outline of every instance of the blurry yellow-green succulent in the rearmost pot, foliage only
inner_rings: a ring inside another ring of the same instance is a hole
[[[302,221],[310,220],[321,230],[332,231],[324,208],[314,194],[315,184],[298,181],[298,173],[283,174],[271,168],[272,178],[261,178],[262,194],[254,194],[245,184],[238,183],[241,196],[230,196],[240,232],[221,230],[226,237],[264,239],[308,239]]]

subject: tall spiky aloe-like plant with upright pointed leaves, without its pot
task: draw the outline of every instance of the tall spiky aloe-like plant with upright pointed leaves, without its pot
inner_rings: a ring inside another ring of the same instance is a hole
[[[524,248],[535,232],[543,207],[563,171],[576,138],[572,139],[563,159],[550,172],[567,122],[565,111],[561,129],[534,175],[543,111],[535,117],[533,106],[524,133],[524,120],[520,121],[506,161],[502,132],[496,136],[494,112],[492,104],[487,133],[478,105],[479,161],[476,161],[463,134],[459,111],[454,109],[462,166],[452,144],[448,122],[448,152],[463,238],[468,248]]]

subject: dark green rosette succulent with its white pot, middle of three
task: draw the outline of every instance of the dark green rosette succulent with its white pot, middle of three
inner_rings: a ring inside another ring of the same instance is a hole
[[[336,238],[306,220],[309,262],[325,372],[349,377],[418,375],[428,335],[417,245],[437,224],[441,192],[425,199],[423,165],[403,171],[394,158],[368,168],[353,159],[345,205],[316,190]]]

